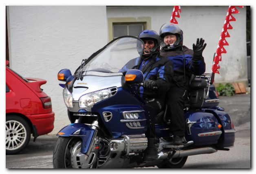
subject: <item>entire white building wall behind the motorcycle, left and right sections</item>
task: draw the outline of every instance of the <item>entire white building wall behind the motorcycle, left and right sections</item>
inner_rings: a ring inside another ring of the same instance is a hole
[[[207,47],[203,53],[206,72],[212,67],[213,54],[227,13],[227,6],[181,6],[177,18],[184,32],[184,45],[192,48],[197,37],[203,37]],[[52,99],[55,112],[56,134],[69,124],[62,88],[57,73],[69,68],[75,72],[82,59],[88,58],[108,41],[107,17],[151,17],[151,29],[159,32],[162,24],[170,21],[173,6],[10,6],[7,7],[9,57],[13,70],[24,77],[47,80],[42,85]],[[222,54],[220,74],[215,81],[247,79],[246,59],[246,9],[238,8],[235,22],[230,22]]]

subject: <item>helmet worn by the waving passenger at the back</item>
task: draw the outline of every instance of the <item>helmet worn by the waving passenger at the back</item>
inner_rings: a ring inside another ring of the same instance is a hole
[[[174,42],[172,46],[166,45],[166,43],[164,43],[163,41],[163,38],[166,35],[170,35],[170,34],[174,34],[177,37],[177,40]],[[182,46],[183,44],[183,31],[179,28],[177,24],[173,24],[173,23],[163,24],[160,28],[159,35],[161,38],[161,47],[163,50],[172,50]]]

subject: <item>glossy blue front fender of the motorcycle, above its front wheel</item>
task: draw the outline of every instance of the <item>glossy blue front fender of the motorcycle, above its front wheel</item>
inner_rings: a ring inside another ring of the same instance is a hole
[[[82,123],[72,123],[62,128],[57,136],[59,137],[79,137],[82,139],[81,152],[86,154],[93,141],[94,134],[97,133],[90,126]]]

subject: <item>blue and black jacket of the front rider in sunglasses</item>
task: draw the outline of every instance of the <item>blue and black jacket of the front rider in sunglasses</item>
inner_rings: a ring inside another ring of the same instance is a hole
[[[159,87],[157,91],[151,91],[143,87],[139,88],[140,95],[143,99],[156,98],[165,100],[165,95],[170,88],[170,81],[173,76],[173,64],[171,61],[160,55],[153,55],[152,58],[146,60],[137,57],[126,63],[119,72],[126,72],[130,69],[141,70],[144,81],[150,79],[157,82]]]

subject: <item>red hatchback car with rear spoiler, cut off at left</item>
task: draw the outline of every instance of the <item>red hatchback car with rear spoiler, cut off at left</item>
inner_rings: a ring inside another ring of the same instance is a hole
[[[53,130],[54,112],[51,98],[41,85],[46,80],[23,78],[9,67],[6,61],[6,154],[21,152],[30,141]]]

